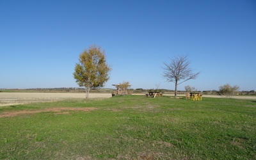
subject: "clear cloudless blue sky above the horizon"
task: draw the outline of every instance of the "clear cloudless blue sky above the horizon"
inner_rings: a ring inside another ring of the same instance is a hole
[[[112,84],[174,90],[163,62],[189,54],[178,86],[256,90],[256,1],[0,1],[0,88],[77,87],[79,54],[100,45]]]

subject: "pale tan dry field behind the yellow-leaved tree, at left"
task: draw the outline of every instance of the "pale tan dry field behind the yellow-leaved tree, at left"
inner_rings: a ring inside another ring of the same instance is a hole
[[[111,97],[111,93],[90,93],[89,99]],[[84,99],[85,93],[16,93],[0,92],[0,106],[31,102],[54,102],[65,99]]]

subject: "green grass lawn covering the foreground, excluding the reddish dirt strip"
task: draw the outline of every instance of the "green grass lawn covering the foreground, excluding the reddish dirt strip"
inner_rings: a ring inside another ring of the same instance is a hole
[[[115,96],[5,106],[0,159],[256,159],[256,101]]]

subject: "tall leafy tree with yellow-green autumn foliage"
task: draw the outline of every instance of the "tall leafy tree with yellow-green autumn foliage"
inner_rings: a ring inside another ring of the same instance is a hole
[[[111,67],[106,62],[105,51],[100,47],[91,45],[79,56],[79,63],[76,63],[74,79],[79,86],[84,86],[87,100],[91,89],[98,89],[104,86],[109,79]]]

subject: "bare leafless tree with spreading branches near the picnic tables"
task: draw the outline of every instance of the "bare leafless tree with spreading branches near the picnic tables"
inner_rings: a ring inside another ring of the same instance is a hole
[[[174,56],[170,63],[164,63],[163,77],[167,79],[168,82],[175,83],[175,98],[177,97],[177,86],[180,83],[184,83],[189,79],[196,79],[200,72],[193,73],[193,69],[189,67],[190,61],[187,55]],[[180,82],[181,81],[181,82]]]

